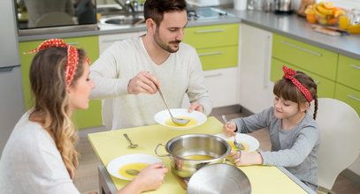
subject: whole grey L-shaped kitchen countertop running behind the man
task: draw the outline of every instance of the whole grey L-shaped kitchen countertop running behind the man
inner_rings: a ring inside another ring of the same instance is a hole
[[[319,34],[312,30],[311,24],[306,19],[292,15],[277,15],[272,12],[264,11],[235,11],[234,9],[224,9],[235,17],[217,20],[189,21],[188,26],[208,26],[231,23],[244,23],[255,26],[266,31],[287,36],[297,41],[325,48],[344,56],[349,56],[360,60],[360,34],[329,36]],[[19,35],[19,41],[37,41],[50,38],[69,38],[90,35],[120,34],[146,30],[145,25],[138,26],[110,26],[99,25],[99,30],[89,30],[80,32],[58,33],[58,34],[36,34]]]

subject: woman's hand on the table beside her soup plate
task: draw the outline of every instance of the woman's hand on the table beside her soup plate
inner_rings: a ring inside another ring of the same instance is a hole
[[[169,171],[164,167],[164,163],[156,163],[144,168],[139,175],[134,178],[134,183],[145,190],[157,190],[164,183],[165,174]]]

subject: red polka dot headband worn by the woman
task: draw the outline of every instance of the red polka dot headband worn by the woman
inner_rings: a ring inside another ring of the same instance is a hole
[[[43,41],[38,48],[28,51],[25,54],[39,52],[44,48],[50,48],[50,47],[67,48],[65,80],[66,80],[66,86],[70,86],[72,84],[73,77],[75,76],[76,69],[78,68],[78,64],[79,64],[79,53],[77,48],[74,48],[73,46],[66,44],[65,41],[62,39],[50,39],[47,41]],[[86,57],[86,61],[90,63],[90,60],[88,60],[88,56]]]

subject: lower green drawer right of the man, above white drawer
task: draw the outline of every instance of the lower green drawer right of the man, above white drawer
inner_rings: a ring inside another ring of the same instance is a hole
[[[238,63],[238,46],[197,49],[203,64],[203,70],[214,70],[236,67]]]

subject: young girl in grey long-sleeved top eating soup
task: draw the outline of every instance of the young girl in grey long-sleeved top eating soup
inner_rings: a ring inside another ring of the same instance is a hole
[[[237,166],[253,164],[282,166],[307,184],[318,190],[317,152],[320,131],[315,122],[318,110],[317,85],[301,71],[283,66],[284,77],[275,83],[273,107],[244,118],[236,118],[224,131],[227,136],[236,132],[250,133],[268,128],[272,151],[259,153],[233,153]],[[315,101],[314,115],[307,114],[310,102]]]

